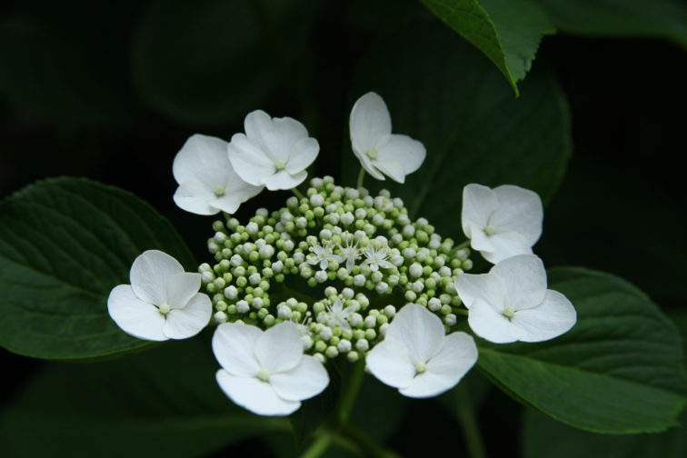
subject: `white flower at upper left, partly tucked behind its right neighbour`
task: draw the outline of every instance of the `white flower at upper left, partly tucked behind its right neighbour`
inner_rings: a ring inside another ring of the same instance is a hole
[[[248,184],[226,157],[227,143],[194,134],[174,157],[172,171],[179,187],[174,203],[194,214],[233,214],[239,205],[259,194],[262,185]]]

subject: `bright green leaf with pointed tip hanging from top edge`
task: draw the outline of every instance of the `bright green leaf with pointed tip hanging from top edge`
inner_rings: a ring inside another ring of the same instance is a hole
[[[531,0],[422,0],[434,15],[477,46],[518,94],[543,35],[555,33]]]

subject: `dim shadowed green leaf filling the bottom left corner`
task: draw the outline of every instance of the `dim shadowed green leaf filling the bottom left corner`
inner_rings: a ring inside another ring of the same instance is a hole
[[[0,413],[0,456],[187,458],[288,431],[231,403],[202,339],[93,364],[51,363]]]

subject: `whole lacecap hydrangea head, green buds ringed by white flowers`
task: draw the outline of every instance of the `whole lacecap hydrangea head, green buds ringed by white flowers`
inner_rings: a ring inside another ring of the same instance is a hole
[[[304,185],[319,144],[298,121],[258,110],[244,131],[230,142],[195,134],[174,159],[174,202],[224,216],[207,241],[212,262],[189,274],[171,256],[145,252],[131,284],[115,287],[108,301],[115,323],[141,339],[214,328],[216,381],[234,403],[261,415],[293,413],[327,388],[334,360],[405,396],[431,397],[473,367],[473,335],[540,342],[575,324],[572,304],[546,288],[532,251],[542,233],[537,194],[510,184],[465,186],[468,240],[456,244],[411,218],[389,191],[363,187],[365,174],[403,184],[427,154],[419,141],[392,134],[380,95],[363,95],[351,112],[361,163],[354,187],[331,176]],[[294,195],[247,221],[233,216],[265,188]],[[467,274],[470,247],[494,264],[489,273]],[[465,317],[470,334],[458,330]]]

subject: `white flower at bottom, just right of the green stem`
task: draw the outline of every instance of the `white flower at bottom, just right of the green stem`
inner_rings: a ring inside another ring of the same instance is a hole
[[[366,357],[375,377],[414,398],[452,388],[476,361],[473,337],[445,335],[439,317],[419,304],[405,305]]]

